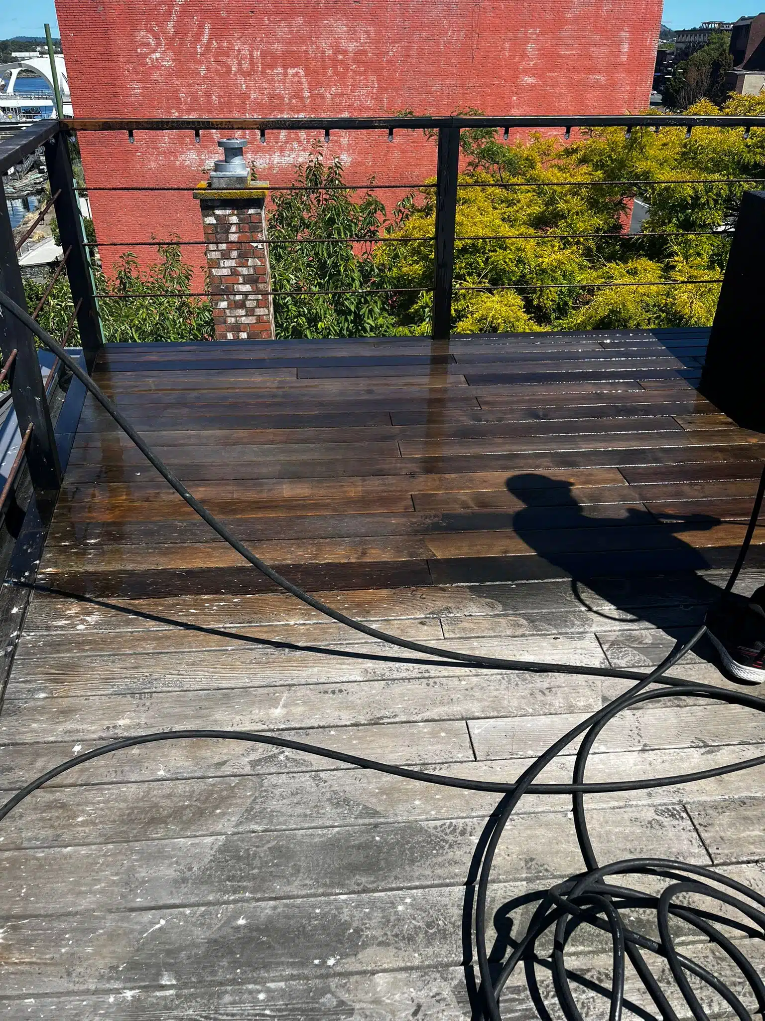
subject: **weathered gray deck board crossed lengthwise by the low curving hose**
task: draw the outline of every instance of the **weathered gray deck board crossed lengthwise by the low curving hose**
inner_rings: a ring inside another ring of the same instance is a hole
[[[762,744],[722,745],[702,748],[650,748],[640,751],[600,752],[592,757],[588,779],[628,780],[636,776],[672,776],[690,770],[744,762],[761,757]],[[525,758],[455,762],[427,765],[429,772],[472,779],[512,780],[531,760]],[[304,767],[307,764],[304,763]],[[571,778],[573,757],[564,756],[548,767],[543,781],[565,783]],[[414,780],[379,774],[370,777],[353,768],[311,772],[265,773],[257,776],[219,776],[171,779],[165,769],[153,782],[96,783],[87,777],[65,781],[74,786],[47,789],[35,796],[32,812],[14,813],[3,826],[0,847],[57,847],[89,843],[120,842],[130,833],[134,840],[159,840],[172,832],[174,838],[230,833],[257,833],[303,828],[355,825],[389,821],[428,822],[440,819],[484,819],[498,796],[468,790],[449,790]],[[103,779],[99,776],[99,779]],[[676,805],[690,808],[697,826],[698,813],[711,803],[712,813],[725,813],[744,805],[750,818],[762,811],[756,799],[765,796],[765,764],[749,770],[699,781],[688,791],[679,786],[639,790],[630,794],[630,807],[641,804]],[[720,797],[728,798],[720,805]],[[742,799],[749,798],[749,801]],[[619,793],[593,794],[593,807],[621,807]],[[285,806],[290,811],[286,813]],[[530,794],[518,815],[544,812],[567,813],[570,797]],[[743,810],[744,811],[744,810]],[[61,819],[70,822],[61,830]],[[706,825],[706,824],[705,824]],[[760,840],[765,839],[762,833]]]

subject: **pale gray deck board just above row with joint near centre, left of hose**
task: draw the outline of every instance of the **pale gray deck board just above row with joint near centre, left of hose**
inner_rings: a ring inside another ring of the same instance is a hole
[[[327,672],[332,668],[328,668]],[[533,680],[531,679],[533,677]],[[103,687],[95,695],[48,697],[31,685],[37,698],[34,719],[29,719],[24,697],[8,698],[0,716],[0,741],[18,739],[26,721],[27,740],[47,736],[52,740],[114,740],[150,729],[183,729],[190,721],[204,721],[206,728],[235,730],[294,730],[304,727],[344,727],[359,724],[464,720],[477,706],[494,716],[522,706],[528,713],[565,713],[574,708],[595,712],[601,706],[597,679],[566,675],[524,677],[430,678],[328,684],[258,687],[221,674],[219,684],[199,675],[192,690],[163,689],[153,679],[142,678],[134,695],[109,695]],[[231,687],[224,687],[227,680]],[[64,680],[63,686],[68,686]]]

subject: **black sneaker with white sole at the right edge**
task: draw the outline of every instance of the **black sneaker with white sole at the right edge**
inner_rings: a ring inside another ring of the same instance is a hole
[[[723,598],[707,614],[707,633],[723,666],[741,681],[765,681],[765,588],[751,599]]]

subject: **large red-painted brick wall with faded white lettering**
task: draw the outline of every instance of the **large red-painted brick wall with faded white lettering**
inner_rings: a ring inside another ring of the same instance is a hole
[[[57,0],[76,116],[621,113],[648,105],[661,0]],[[318,133],[245,150],[286,184]],[[88,184],[193,187],[211,133],[81,135]],[[338,133],[347,179],[435,174],[421,133]],[[101,242],[202,238],[188,195],[91,193]],[[203,262],[202,249],[189,249]],[[117,250],[112,249],[112,255]],[[102,249],[107,263],[111,256]]]

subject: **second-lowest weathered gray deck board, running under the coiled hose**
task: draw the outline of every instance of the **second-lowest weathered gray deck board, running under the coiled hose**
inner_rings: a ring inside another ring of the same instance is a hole
[[[753,868],[757,867],[740,870],[736,878],[756,883],[759,876]],[[527,882],[498,883],[492,906],[532,890]],[[52,932],[44,919],[10,921],[8,932],[13,933],[19,949],[45,960],[40,985],[47,993],[70,992],[86,975],[93,990],[113,988],[116,976],[147,992],[162,984],[184,989],[199,981],[198,969],[210,939],[231,945],[231,958],[239,962],[238,976],[243,984],[304,979],[306,973],[314,979],[330,978],[361,970],[436,969],[459,964],[458,928],[452,923],[459,915],[463,895],[459,887],[429,887],[316,897],[310,902],[310,911],[305,911],[300,901],[279,901],[113,915],[87,912],[68,919],[65,955],[55,953],[50,942]],[[525,924],[528,910],[523,914]],[[413,945],[420,915],[430,934],[421,947]],[[269,924],[263,938],[254,940],[253,930],[262,924],[259,919]],[[351,940],[349,928],[354,935]],[[107,934],[108,941],[104,940]],[[695,956],[705,954],[703,939],[691,934],[681,938]],[[604,942],[596,934],[589,940],[579,934],[571,946],[575,964],[581,968],[593,958],[597,961],[606,950]],[[302,949],[312,955],[308,972]],[[752,949],[757,955],[756,947]],[[762,960],[762,952],[757,956]],[[209,963],[210,984],[226,981],[230,962],[230,958],[218,956]],[[174,981],[168,982],[168,975]],[[23,965],[9,963],[8,993],[23,995]]]

